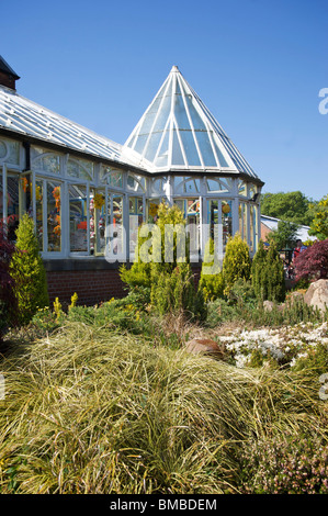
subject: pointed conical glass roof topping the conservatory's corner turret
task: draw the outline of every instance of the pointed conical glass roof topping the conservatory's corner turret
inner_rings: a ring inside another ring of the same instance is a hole
[[[213,170],[257,177],[197,94],[173,66],[123,146],[149,171]],[[149,167],[150,166],[150,167]]]

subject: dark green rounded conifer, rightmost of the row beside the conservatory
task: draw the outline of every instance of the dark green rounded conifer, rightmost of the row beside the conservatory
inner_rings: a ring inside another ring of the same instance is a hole
[[[274,244],[271,244],[269,250],[265,250],[262,240],[260,240],[259,249],[251,265],[251,281],[258,299],[284,301],[284,267]]]

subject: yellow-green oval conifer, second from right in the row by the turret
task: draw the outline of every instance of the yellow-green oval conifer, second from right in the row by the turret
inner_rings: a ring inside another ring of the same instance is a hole
[[[229,238],[225,257],[223,260],[223,277],[225,282],[225,293],[228,293],[233,284],[242,278],[248,280],[250,277],[250,256],[246,242],[241,239],[239,233]]]

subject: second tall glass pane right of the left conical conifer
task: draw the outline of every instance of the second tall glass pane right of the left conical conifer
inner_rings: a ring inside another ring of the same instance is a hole
[[[87,237],[87,187],[68,187],[70,251],[88,251]]]

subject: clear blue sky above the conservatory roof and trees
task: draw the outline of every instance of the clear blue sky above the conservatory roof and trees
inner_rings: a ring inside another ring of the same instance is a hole
[[[16,0],[0,15],[20,94],[124,143],[178,65],[264,192],[328,193],[327,0]]]

